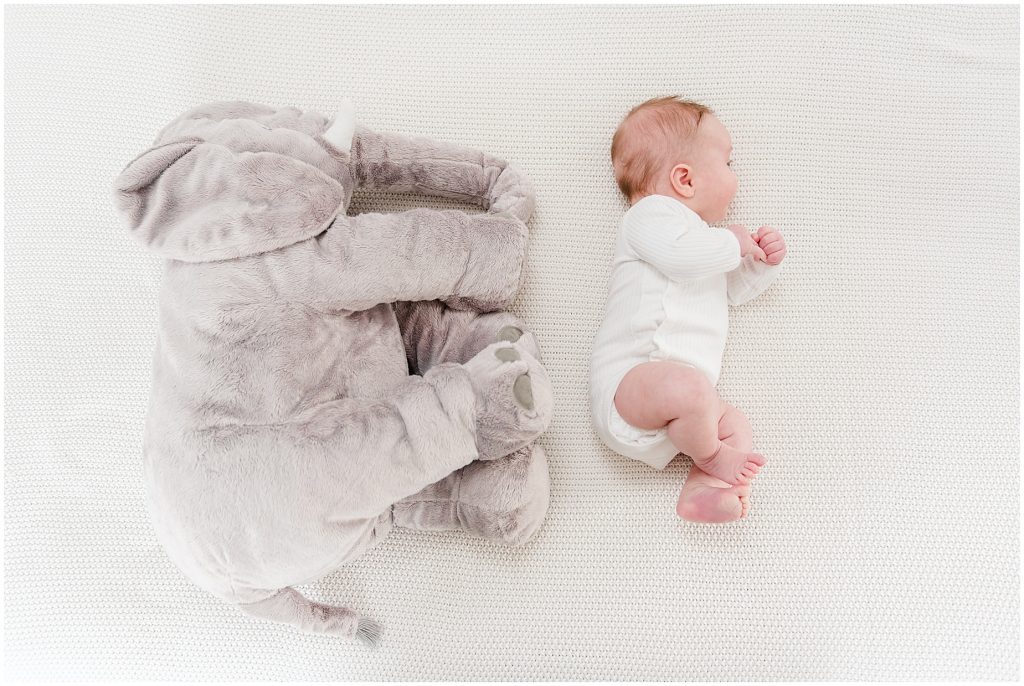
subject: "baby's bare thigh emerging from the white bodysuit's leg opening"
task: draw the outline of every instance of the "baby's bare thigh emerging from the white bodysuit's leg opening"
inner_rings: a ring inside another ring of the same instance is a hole
[[[684,415],[715,414],[720,399],[708,378],[688,365],[651,361],[631,369],[615,390],[615,410],[629,424],[657,429]]]

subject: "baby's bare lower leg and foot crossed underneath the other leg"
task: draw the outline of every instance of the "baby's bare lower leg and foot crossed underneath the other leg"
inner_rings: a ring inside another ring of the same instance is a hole
[[[728,402],[721,400],[721,403],[718,437],[737,451],[750,453],[754,448],[754,431],[750,422]],[[746,516],[750,494],[750,484],[730,486],[693,465],[679,494],[676,514],[695,522],[734,521]]]

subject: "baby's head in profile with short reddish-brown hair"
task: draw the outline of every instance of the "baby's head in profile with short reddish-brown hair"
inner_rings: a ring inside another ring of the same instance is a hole
[[[736,195],[731,155],[729,132],[714,113],[675,96],[633,108],[611,139],[615,181],[630,205],[669,196],[708,223],[724,219]]]

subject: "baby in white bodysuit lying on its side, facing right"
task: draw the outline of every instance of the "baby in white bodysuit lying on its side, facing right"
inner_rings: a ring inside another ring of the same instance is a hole
[[[765,464],[751,425],[715,390],[728,305],[762,293],[785,256],[773,228],[722,221],[736,194],[729,132],[708,108],[678,97],[634,108],[611,141],[629,200],[604,323],[591,360],[591,412],[612,451],[664,469],[693,459],[676,512],[690,521],[746,516]]]

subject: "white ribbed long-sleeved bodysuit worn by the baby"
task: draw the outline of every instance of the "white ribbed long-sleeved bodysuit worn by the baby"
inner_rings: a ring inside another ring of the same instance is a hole
[[[618,382],[637,365],[664,359],[717,384],[728,306],[759,295],[778,269],[740,258],[731,231],[709,226],[673,198],[647,196],[627,211],[591,358],[591,413],[608,447],[656,469],[672,461],[678,451],[664,429],[637,429],[615,412]]]

